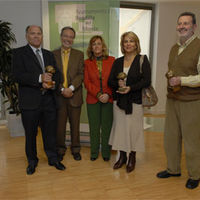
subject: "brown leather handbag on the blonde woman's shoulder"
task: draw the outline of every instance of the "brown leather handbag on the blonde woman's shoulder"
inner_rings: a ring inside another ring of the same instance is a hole
[[[142,63],[144,55],[140,56],[140,73],[142,74]],[[152,85],[142,89],[142,105],[143,107],[152,107],[158,103],[158,96]]]

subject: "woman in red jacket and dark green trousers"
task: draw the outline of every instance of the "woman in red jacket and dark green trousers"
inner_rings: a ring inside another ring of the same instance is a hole
[[[84,84],[87,90],[87,114],[90,128],[92,161],[101,154],[104,161],[110,159],[108,144],[113,119],[112,91],[108,87],[108,77],[114,57],[108,56],[107,47],[99,35],[90,39],[85,60]]]

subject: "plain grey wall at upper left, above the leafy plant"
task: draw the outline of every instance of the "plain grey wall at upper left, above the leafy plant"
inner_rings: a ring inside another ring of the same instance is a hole
[[[42,25],[40,0],[0,0],[0,19],[12,24],[17,43],[16,47],[26,44],[27,25]]]

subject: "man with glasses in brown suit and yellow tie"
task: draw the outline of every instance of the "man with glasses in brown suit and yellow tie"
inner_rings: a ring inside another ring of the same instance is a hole
[[[71,134],[71,152],[75,160],[81,160],[80,154],[80,114],[83,103],[83,52],[73,49],[75,30],[64,27],[61,30],[61,47],[53,51],[57,66],[61,72],[61,85],[58,94],[57,152],[60,160],[65,155],[66,123],[69,119]]]

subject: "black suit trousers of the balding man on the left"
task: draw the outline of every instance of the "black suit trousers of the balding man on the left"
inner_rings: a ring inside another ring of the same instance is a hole
[[[48,161],[57,161],[56,153],[56,107],[52,95],[44,95],[38,109],[22,110],[22,123],[25,129],[25,150],[29,164],[36,165],[38,126],[41,127],[44,150]]]

